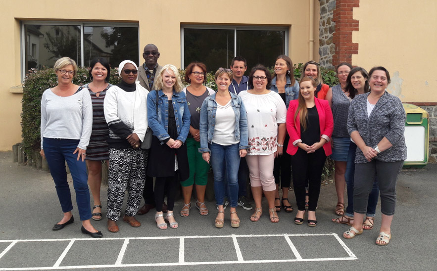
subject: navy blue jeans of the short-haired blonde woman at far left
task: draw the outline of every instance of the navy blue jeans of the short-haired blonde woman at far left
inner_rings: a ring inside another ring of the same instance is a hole
[[[65,161],[67,161],[76,191],[76,203],[80,220],[91,219],[90,190],[88,190],[87,165],[82,159],[77,161],[77,153],[73,154],[79,144],[79,139],[54,139],[44,137],[43,148],[49,164],[56,193],[62,207],[62,212],[73,210],[70,187],[67,182]]]

